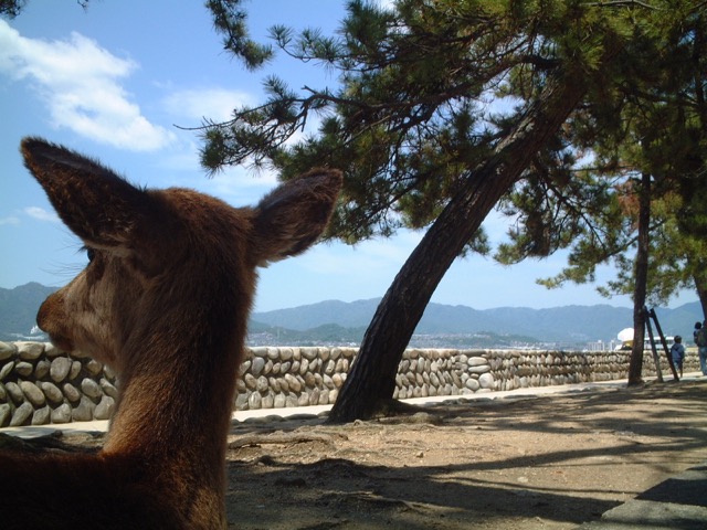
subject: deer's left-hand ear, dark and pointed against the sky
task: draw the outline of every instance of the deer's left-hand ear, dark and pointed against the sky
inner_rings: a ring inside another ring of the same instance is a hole
[[[40,138],[25,138],[21,150],[59,216],[87,243],[125,245],[150,211],[145,191],[89,158]]]

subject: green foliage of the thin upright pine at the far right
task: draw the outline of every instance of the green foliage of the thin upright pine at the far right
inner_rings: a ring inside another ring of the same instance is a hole
[[[578,113],[570,124],[569,141],[595,155],[593,178],[613,182],[608,192],[614,213],[592,213],[591,224],[605,234],[602,244],[594,233],[580,234],[568,267],[541,280],[549,287],[593,280],[595,267],[612,259],[619,276],[601,293],[633,292],[637,199],[632,178],[647,172],[654,181],[648,299],[664,305],[679,288],[707,294],[707,8],[704,2],[656,6],[647,23],[637,26],[632,61],[623,63],[622,82],[604,99],[605,107]]]

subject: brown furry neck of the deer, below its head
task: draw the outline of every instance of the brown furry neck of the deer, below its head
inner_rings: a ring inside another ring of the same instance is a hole
[[[222,470],[245,317],[231,324],[230,337],[221,325],[167,324],[125,352],[131,362],[118,380],[120,396],[104,453],[135,455],[163,473]],[[191,337],[175,346],[172,336],[184,329]]]

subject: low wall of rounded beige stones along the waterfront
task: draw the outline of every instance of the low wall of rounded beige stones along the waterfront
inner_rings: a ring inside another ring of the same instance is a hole
[[[331,404],[357,348],[251,348],[241,367],[234,409]],[[530,386],[625,379],[630,352],[410,349],[393,398],[466,395]],[[662,356],[664,378],[672,379]],[[685,372],[699,370],[688,350]],[[654,375],[646,352],[643,374]],[[44,342],[0,342],[0,427],[107,420],[115,374],[88,358]]]

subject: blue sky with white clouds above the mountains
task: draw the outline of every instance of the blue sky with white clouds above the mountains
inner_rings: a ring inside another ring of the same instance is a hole
[[[246,3],[252,36],[267,28],[336,29],[344,1],[257,0]],[[276,176],[236,167],[209,178],[200,167],[200,139],[187,127],[228,119],[242,104],[264,98],[262,82],[276,74],[294,88],[334,86],[315,64],[278,55],[265,70],[247,72],[223,52],[201,1],[30,0],[14,20],[0,19],[0,287],[29,282],[66,284],[85,264],[81,242],[59,221],[44,192],[22,165],[19,144],[41,136],[99,159],[131,182],[149,188],[187,187],[235,206],[253,204],[276,186]],[[492,243],[507,221],[484,224]],[[354,247],[321,243],[260,273],[256,311],[338,299],[382,297],[422,237],[403,231]],[[595,284],[548,290],[536,278],[552,276],[566,254],[511,267],[490,257],[457,259],[432,301],[476,309],[546,308],[610,304],[595,287],[612,279],[602,267]],[[680,293],[669,307],[697,300]]]

